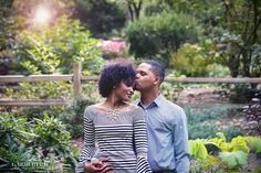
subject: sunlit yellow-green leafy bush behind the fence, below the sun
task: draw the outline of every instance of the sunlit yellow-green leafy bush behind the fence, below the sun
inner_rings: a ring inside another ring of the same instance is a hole
[[[35,26],[19,34],[22,65],[36,74],[72,73],[72,63],[82,63],[85,73],[95,73],[103,61],[97,40],[77,20],[66,15],[53,26]]]

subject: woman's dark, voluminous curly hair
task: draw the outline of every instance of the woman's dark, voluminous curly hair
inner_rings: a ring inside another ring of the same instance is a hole
[[[103,97],[108,97],[113,88],[125,82],[132,86],[135,83],[136,72],[130,63],[117,62],[105,65],[98,80],[98,91]]]

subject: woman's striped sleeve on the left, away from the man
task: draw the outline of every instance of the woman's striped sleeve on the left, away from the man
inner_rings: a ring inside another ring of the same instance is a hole
[[[92,115],[90,107],[84,111],[84,147],[80,155],[80,162],[76,165],[76,172],[84,172],[85,161],[91,161],[95,153],[95,133],[94,133],[94,123],[92,120]]]

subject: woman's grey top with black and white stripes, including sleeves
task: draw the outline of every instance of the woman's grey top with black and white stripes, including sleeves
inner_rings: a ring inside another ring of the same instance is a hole
[[[98,152],[95,152],[95,143]],[[142,108],[118,116],[90,106],[84,112],[84,148],[80,162],[109,158],[114,173],[152,172],[147,162],[147,133]]]

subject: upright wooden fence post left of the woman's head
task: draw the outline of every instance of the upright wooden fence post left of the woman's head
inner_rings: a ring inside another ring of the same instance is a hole
[[[81,76],[82,76],[81,64],[74,63],[73,64],[73,94],[74,94],[74,98],[79,98],[81,96],[81,91],[82,91]]]

